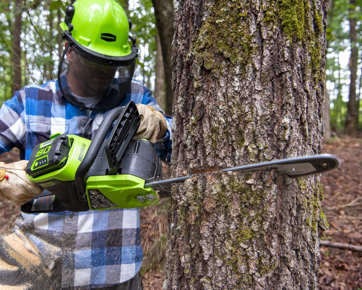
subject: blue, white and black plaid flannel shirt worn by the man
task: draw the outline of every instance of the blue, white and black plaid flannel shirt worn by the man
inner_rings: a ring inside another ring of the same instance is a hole
[[[136,81],[132,81],[120,105],[131,100],[162,111],[151,91]],[[16,146],[20,149],[20,158],[29,160],[35,145],[58,132],[91,139],[106,113],[92,111],[88,115],[86,110],[68,103],[57,80],[42,86],[26,86],[0,109],[0,153]],[[155,148],[161,158],[169,159],[172,119],[166,120],[167,133]],[[142,264],[138,208],[21,213],[15,231],[28,236],[50,269],[61,260],[62,288],[85,289],[122,283],[134,277]]]

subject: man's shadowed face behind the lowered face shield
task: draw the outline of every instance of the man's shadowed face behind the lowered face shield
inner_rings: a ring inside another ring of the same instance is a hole
[[[117,67],[102,66],[88,61],[71,47],[68,47],[66,54],[70,64],[67,80],[74,94],[95,96],[109,88]]]

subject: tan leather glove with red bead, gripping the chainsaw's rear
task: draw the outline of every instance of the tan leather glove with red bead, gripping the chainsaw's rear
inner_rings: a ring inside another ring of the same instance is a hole
[[[26,160],[0,162],[0,195],[16,204],[24,204],[44,190],[26,176],[26,164]]]

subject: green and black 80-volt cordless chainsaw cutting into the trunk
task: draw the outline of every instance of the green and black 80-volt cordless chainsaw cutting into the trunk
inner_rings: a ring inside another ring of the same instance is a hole
[[[21,211],[42,213],[136,208],[158,204],[160,198],[170,196],[173,185],[183,183],[194,175],[162,180],[162,166],[153,144],[134,138],[139,124],[137,107],[131,101],[125,107],[114,108],[108,113],[92,141],[58,133],[52,135],[49,141],[35,146],[25,171],[31,181],[45,190],[23,204]],[[340,163],[337,156],[321,154],[217,171],[274,170],[297,178],[332,170]]]

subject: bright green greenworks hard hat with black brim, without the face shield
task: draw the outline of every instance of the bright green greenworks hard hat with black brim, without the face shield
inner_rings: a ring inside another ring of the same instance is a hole
[[[137,57],[129,44],[130,21],[114,0],[77,0],[66,8],[60,24],[63,38],[81,56],[109,66],[128,65]]]

